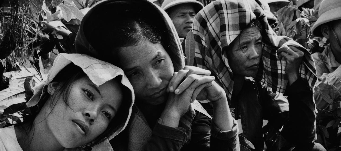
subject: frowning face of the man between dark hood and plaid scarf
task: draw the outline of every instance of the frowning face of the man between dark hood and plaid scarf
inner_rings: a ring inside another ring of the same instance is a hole
[[[186,38],[187,33],[192,30],[195,17],[192,4],[180,4],[170,8],[169,17],[172,19],[175,29],[180,38]]]

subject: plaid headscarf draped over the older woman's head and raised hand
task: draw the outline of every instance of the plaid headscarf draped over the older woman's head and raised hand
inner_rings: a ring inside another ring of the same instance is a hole
[[[194,19],[195,60],[197,66],[210,70],[231,100],[233,73],[223,51],[253,20],[262,24],[262,60],[256,80],[267,84],[274,93],[284,93],[288,79],[285,77],[285,60],[279,60],[277,49],[283,45],[299,47],[305,52],[300,66],[300,77],[308,80],[312,89],[316,82],[315,65],[311,54],[300,44],[286,36],[277,36],[268,25],[262,4],[258,0],[217,0],[208,4]]]

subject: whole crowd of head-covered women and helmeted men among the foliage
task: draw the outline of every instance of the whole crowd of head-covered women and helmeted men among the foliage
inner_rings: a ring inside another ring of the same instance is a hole
[[[288,3],[97,3],[75,51],[26,91],[30,115],[0,128],[0,151],[263,151],[264,120],[288,144],[281,150],[325,151],[316,107],[341,101],[322,89],[341,92],[341,1],[315,3],[312,34],[330,43],[313,54],[271,28]]]

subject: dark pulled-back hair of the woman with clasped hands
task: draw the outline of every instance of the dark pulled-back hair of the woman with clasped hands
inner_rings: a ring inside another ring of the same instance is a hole
[[[88,41],[99,52],[101,60],[119,66],[117,54],[121,47],[139,45],[143,41],[162,44],[158,27],[139,14],[135,10],[121,10],[114,20],[94,25]]]

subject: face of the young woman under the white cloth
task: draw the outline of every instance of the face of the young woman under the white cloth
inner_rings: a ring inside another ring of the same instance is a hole
[[[53,105],[43,106],[42,110],[49,108],[45,110],[47,114],[51,111],[43,122],[47,122],[48,130],[61,146],[74,148],[87,144],[106,130],[122,103],[122,90],[115,80],[97,87],[88,77],[83,77],[75,80],[70,88],[69,106],[61,93],[50,98],[56,98],[56,104],[52,111]]]

